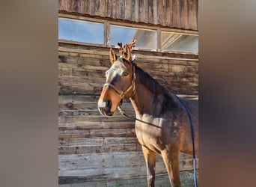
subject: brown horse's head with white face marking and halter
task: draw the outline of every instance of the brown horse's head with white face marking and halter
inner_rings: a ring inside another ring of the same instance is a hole
[[[135,88],[135,67],[132,64],[129,45],[122,48],[122,56],[118,58],[114,49],[110,49],[112,66],[106,71],[106,84],[98,101],[101,114],[111,116],[115,113],[122,99],[132,96]]]

